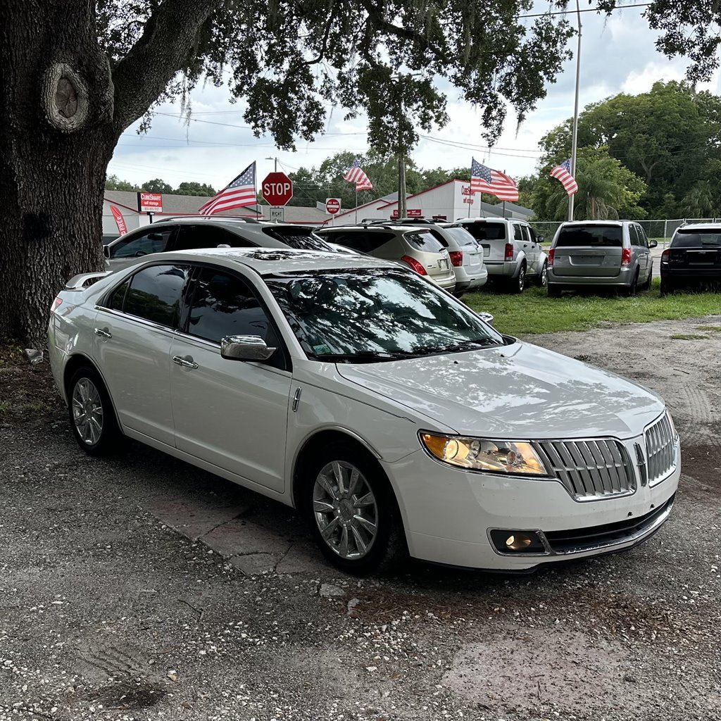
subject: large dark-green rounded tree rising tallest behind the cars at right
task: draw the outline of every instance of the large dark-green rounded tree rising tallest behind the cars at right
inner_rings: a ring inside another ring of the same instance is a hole
[[[566,120],[542,138],[543,167],[570,156],[571,125]],[[586,106],[578,118],[578,146],[605,146],[645,180],[639,205],[652,217],[684,217],[689,208],[721,205],[721,99],[689,84],[658,82],[649,92]]]

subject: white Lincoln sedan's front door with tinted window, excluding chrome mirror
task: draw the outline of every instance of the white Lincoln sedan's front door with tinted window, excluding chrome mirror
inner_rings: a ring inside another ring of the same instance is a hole
[[[291,372],[282,341],[247,280],[204,267],[170,353],[175,443],[181,451],[282,492]],[[278,348],[267,363],[221,358],[227,335]]]

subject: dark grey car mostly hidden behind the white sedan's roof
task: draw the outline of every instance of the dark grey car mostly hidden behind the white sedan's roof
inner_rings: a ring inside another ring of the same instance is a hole
[[[172,250],[215,248],[297,248],[329,250],[311,226],[257,221],[228,216],[178,216],[163,218],[121,235],[105,245],[108,270],[133,265],[139,257]]]

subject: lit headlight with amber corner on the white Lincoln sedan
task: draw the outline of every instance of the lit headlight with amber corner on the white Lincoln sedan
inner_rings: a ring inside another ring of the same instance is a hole
[[[431,456],[451,466],[524,476],[548,475],[546,466],[531,443],[435,433],[419,435]]]

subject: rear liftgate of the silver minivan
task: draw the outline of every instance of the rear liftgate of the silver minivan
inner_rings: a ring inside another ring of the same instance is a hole
[[[554,245],[553,273],[578,278],[614,278],[621,273],[620,225],[562,226]]]

